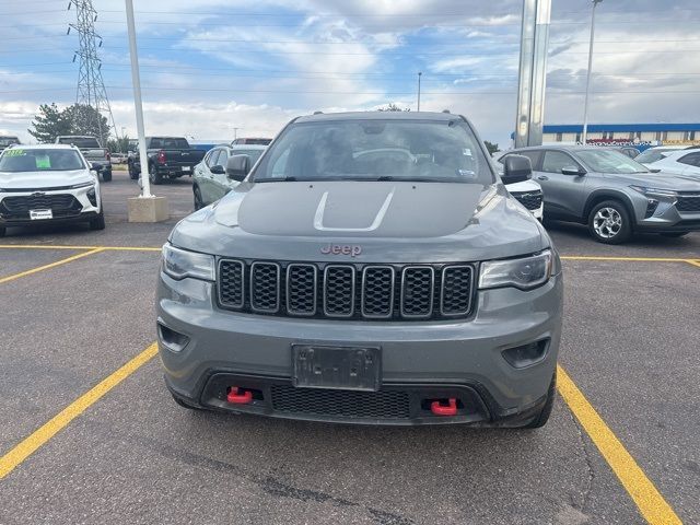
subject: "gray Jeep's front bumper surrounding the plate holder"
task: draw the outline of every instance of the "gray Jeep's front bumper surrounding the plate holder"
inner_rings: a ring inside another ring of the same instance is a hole
[[[532,419],[545,402],[557,363],[562,289],[559,275],[527,292],[480,291],[476,313],[468,319],[368,323],[225,312],[215,306],[211,283],[176,281],[161,273],[159,324],[166,327],[166,335],[174,330],[187,342],[174,351],[159,329],[160,354],[173,395],[198,407],[354,423],[515,424]],[[535,364],[516,369],[502,355],[505,349],[545,340],[544,355]],[[291,387],[291,347],[296,343],[380,347],[382,386],[362,394],[370,396],[366,402],[380,402],[371,396],[402,393],[408,399],[405,410],[400,417],[387,417],[299,408],[315,402],[315,396],[330,396],[328,402],[335,406],[332,396],[345,395],[349,402],[358,393]],[[261,397],[248,405],[231,405],[226,386],[234,385],[257,390]],[[301,405],[280,405],[272,389],[285,392],[288,398],[296,396]],[[463,404],[455,417],[435,417],[424,408],[425,399],[450,397]]]

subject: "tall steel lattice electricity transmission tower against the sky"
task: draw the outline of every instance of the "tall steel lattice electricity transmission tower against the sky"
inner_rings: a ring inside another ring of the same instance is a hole
[[[103,113],[107,116],[107,121],[112,124],[115,137],[117,137],[117,126],[107,98],[105,83],[102,80],[102,61],[97,57],[97,48],[102,47],[102,37],[95,33],[97,11],[92,4],[92,0],[70,0],[68,3],[69,10],[71,4],[75,5],[77,21],[74,24],[69,24],[68,33],[70,34],[71,28],[78,32],[80,46],[75,55],[73,55],[73,62],[77,58],[80,58],[75,103],[91,106],[95,109],[95,118],[97,120],[95,124],[100,129],[100,139],[102,145],[106,147],[109,131],[103,129],[100,116]]]

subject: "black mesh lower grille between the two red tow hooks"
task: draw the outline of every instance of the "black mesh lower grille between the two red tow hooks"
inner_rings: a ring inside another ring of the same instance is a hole
[[[337,418],[408,419],[410,402],[406,392],[353,392],[295,388],[272,385],[272,407],[288,413]]]

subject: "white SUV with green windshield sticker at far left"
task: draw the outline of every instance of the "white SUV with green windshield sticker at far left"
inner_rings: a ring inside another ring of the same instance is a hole
[[[11,145],[0,154],[0,237],[8,228],[88,222],[104,230],[97,165],[74,145]]]

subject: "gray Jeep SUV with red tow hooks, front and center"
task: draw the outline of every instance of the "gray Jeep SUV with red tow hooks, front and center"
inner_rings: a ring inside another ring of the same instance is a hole
[[[563,281],[460,116],[292,120],[163,247],[158,332],[187,408],[365,424],[540,427]],[[245,180],[244,180],[245,179]],[[502,180],[503,182],[502,182]]]

